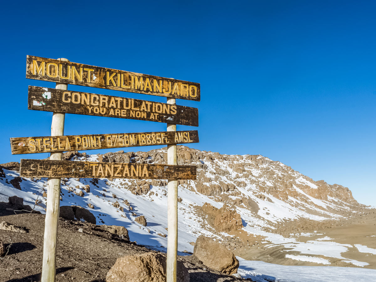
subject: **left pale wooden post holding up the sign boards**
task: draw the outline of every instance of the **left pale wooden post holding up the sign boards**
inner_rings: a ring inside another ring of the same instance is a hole
[[[68,59],[58,60],[68,62]],[[58,71],[58,70],[56,70]],[[67,90],[68,84],[56,83],[56,89]],[[64,135],[64,113],[54,112],[52,115],[51,136]],[[62,152],[51,153],[50,159],[62,159]],[[60,205],[60,178],[47,180],[47,209],[43,238],[43,266],[41,282],[55,282],[56,274],[56,241],[58,236],[59,205]]]

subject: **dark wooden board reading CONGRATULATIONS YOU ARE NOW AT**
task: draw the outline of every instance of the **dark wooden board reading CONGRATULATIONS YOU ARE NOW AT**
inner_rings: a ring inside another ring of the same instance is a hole
[[[29,86],[28,109],[199,126],[197,108],[38,86]]]

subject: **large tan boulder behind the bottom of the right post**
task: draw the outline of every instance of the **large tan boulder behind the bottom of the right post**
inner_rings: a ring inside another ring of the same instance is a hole
[[[189,282],[189,273],[181,261],[177,262],[177,282]],[[107,282],[165,282],[166,257],[161,253],[118,258],[108,271]]]

